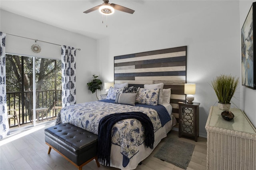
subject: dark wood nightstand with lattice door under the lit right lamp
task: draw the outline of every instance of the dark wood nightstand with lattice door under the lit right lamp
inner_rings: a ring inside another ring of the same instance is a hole
[[[179,137],[182,135],[194,137],[197,142],[199,135],[199,105],[200,103],[179,103]]]

